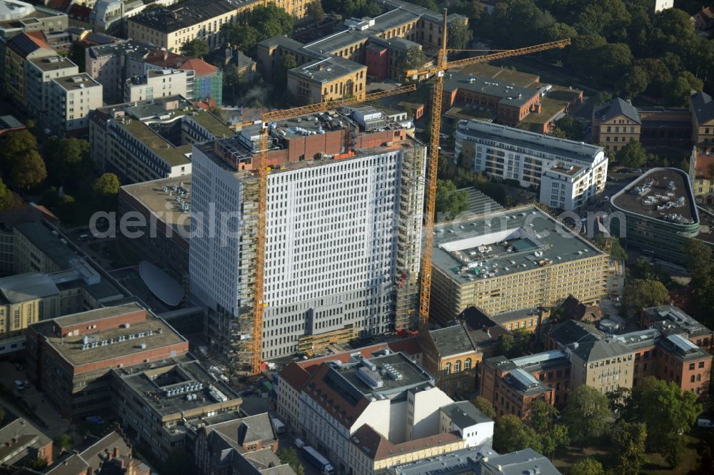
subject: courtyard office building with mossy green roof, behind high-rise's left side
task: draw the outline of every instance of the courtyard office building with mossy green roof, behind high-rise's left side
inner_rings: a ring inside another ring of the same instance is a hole
[[[181,96],[97,108],[89,114],[89,151],[122,183],[191,173],[191,144],[236,133]]]

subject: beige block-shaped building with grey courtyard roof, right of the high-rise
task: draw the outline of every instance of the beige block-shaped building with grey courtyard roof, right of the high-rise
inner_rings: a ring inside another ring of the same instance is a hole
[[[605,295],[608,255],[535,206],[437,225],[435,233],[431,317],[438,321],[470,306],[498,315],[552,307],[571,294],[588,303]]]

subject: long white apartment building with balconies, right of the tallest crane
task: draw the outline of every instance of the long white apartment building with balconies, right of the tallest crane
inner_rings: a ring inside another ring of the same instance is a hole
[[[608,157],[602,147],[482,121],[460,121],[456,156],[477,172],[540,187],[540,203],[574,210],[605,190]]]

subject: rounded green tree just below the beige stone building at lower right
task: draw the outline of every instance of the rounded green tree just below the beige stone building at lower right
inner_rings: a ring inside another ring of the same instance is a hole
[[[581,384],[570,392],[560,419],[568,427],[570,438],[586,446],[605,433],[611,416],[605,394]]]

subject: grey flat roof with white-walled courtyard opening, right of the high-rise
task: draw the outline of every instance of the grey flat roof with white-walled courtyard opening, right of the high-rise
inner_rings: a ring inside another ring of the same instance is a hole
[[[526,205],[436,225],[432,264],[462,285],[598,255],[605,254],[540,208]]]

